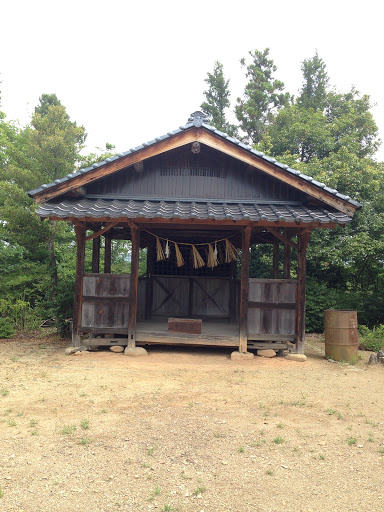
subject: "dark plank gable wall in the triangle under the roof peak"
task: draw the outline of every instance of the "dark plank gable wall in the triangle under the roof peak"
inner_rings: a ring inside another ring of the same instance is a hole
[[[123,169],[90,184],[87,195],[284,201],[303,197],[276,178],[204,145],[199,155],[185,146],[145,160],[140,173],[133,167]]]

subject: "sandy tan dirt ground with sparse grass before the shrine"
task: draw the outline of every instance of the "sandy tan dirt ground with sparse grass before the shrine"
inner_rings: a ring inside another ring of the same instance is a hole
[[[384,367],[0,341],[0,512],[384,510]]]

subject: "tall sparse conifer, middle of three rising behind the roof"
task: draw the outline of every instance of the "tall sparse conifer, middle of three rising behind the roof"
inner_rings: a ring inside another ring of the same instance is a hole
[[[249,52],[250,64],[241,59],[242,67],[246,67],[248,82],[244,89],[244,98],[237,99],[236,117],[245,139],[258,144],[272,122],[275,113],[290,101],[289,93],[284,93],[284,83],[274,78],[277,70],[272,59],[268,58],[269,48],[263,52]]]

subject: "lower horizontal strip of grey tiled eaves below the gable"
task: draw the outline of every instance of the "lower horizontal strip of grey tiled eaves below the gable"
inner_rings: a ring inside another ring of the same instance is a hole
[[[66,199],[62,202],[41,204],[37,214],[41,217],[62,218],[179,218],[337,224],[345,224],[351,221],[351,217],[339,211],[294,203],[257,204],[248,202]]]

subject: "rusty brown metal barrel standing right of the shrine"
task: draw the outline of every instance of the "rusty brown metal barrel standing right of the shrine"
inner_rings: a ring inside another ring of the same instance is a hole
[[[357,312],[341,309],[324,311],[325,357],[335,361],[351,361],[357,356]]]

